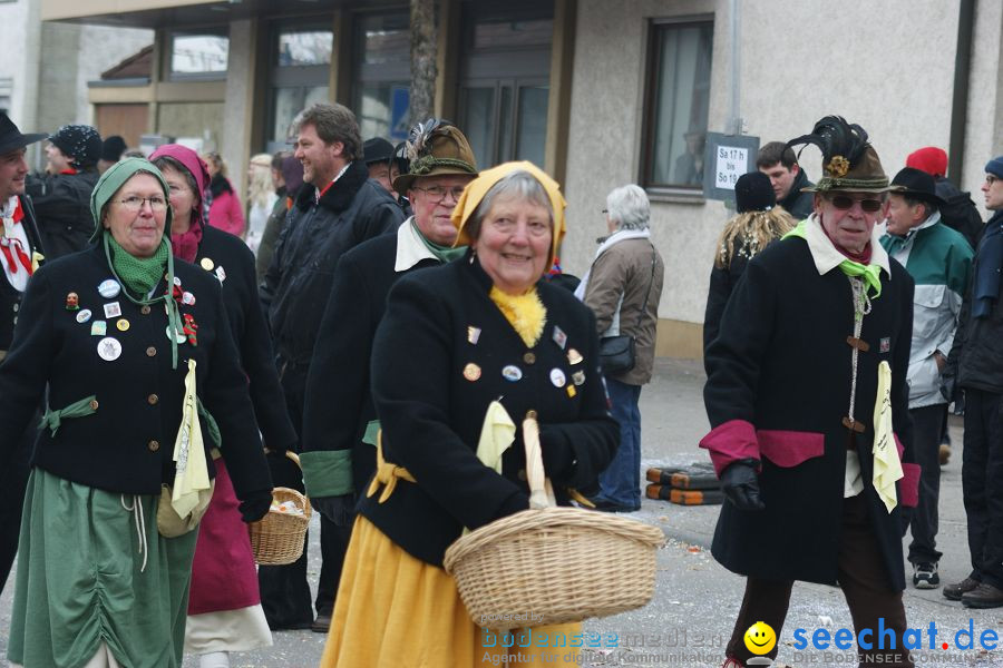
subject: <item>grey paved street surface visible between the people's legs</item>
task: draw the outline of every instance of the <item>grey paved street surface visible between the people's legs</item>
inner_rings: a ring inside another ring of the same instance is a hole
[[[700,363],[659,360],[656,376],[641,395],[643,420],[644,465],[682,464],[707,461],[697,441],[707,432],[701,390],[703,371]],[[968,553],[965,542],[965,519],[961,495],[961,429],[953,424],[954,456],[943,469],[941,497],[941,530],[938,548],[944,552],[941,578],[953,582],[967,572]],[[665,549],[659,552],[658,589],[646,608],[608,619],[590,620],[586,631],[615,632],[616,647],[586,649],[585,666],[720,666],[722,647],[731,632],[731,622],[741,599],[741,578],[729,573],[711,558],[708,547],[713,534],[717,507],[680,507],[645,499],[634,515],[662,528],[669,537]],[[320,571],[319,549],[311,546],[310,574],[315,584]],[[602,577],[602,573],[596,573]],[[0,625],[10,621],[11,591],[0,599]],[[939,589],[906,591],[906,610],[912,628],[923,630],[924,647],[928,642],[931,622],[937,629],[937,649],[924,650],[918,665],[934,666],[1001,666],[1003,650],[957,650],[955,633],[967,629],[970,620],[977,647],[980,635],[986,629],[1003,635],[1003,609],[967,610],[961,603],[947,601]],[[780,632],[780,656],[777,666],[855,665],[847,652],[826,655],[821,650],[798,651],[793,647],[795,629],[805,629],[809,640],[818,628],[830,635],[841,628],[853,629],[849,612],[838,589],[816,584],[795,587],[790,615]],[[605,637],[605,636],[604,636]],[[962,637],[962,640],[966,640]],[[943,641],[948,650],[939,649]],[[310,631],[275,633],[275,646],[267,650],[234,656],[234,667],[306,668],[318,665],[323,637]],[[810,646],[809,646],[810,648]],[[6,654],[6,637],[0,640]],[[409,666],[407,657],[401,667]],[[197,667],[191,658],[185,667]],[[359,667],[366,668],[366,667]],[[448,668],[444,666],[442,668]]]

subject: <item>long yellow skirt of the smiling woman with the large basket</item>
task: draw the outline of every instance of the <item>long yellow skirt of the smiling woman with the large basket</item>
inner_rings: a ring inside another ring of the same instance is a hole
[[[359,515],[344,558],[321,668],[475,668],[575,666],[572,636],[582,625],[541,626],[519,636],[481,630],[467,615],[452,577],[408,554]],[[559,647],[535,647],[541,633],[564,633]],[[519,647],[515,638],[532,639]],[[505,647],[508,645],[509,647]],[[544,658],[546,657],[546,658]]]

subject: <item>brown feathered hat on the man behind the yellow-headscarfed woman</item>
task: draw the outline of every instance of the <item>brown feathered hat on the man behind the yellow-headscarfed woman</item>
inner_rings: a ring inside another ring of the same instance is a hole
[[[415,179],[422,176],[477,176],[470,143],[458,127],[440,118],[429,118],[411,128],[408,160],[408,173],[393,179],[393,189],[398,193],[407,193]]]

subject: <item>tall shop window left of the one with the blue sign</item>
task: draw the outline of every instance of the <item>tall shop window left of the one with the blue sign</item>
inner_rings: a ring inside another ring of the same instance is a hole
[[[267,150],[289,149],[292,121],[314,102],[329,101],[334,33],[309,24],[280,24],[272,40]]]

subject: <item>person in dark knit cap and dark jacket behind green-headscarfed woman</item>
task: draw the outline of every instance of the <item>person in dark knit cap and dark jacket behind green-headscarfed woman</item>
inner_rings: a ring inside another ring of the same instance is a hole
[[[94,234],[90,193],[97,184],[101,136],[86,125],[66,125],[49,136],[45,174],[28,177],[46,255],[56,259],[87,247]]]

